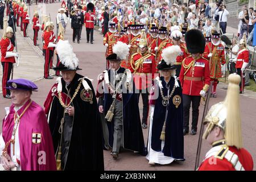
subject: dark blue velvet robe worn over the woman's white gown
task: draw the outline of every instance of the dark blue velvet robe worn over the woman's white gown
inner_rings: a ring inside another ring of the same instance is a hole
[[[163,85],[163,94],[164,96],[167,96],[166,81],[164,81],[163,77],[160,77],[160,80],[162,81]],[[182,89],[180,81],[178,82],[179,87],[176,87],[174,94],[172,94],[172,97],[169,100],[166,121],[166,136],[162,152],[165,156],[184,160]],[[175,78],[171,77],[167,84],[170,87],[170,93],[174,88],[174,84]],[[160,88],[158,84],[155,86],[155,89],[158,89],[159,97],[155,100],[155,110],[152,122],[151,148],[154,151],[161,151],[162,140],[160,140],[160,135],[166,116],[166,106],[163,106],[162,104],[162,97],[160,95]],[[176,95],[180,96],[181,98],[181,103],[177,108],[173,103],[173,98]]]

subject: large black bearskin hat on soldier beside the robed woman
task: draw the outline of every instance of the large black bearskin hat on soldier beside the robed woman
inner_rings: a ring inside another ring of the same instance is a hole
[[[187,44],[188,52],[190,53],[204,53],[205,38],[200,30],[192,29],[185,34],[185,42]]]

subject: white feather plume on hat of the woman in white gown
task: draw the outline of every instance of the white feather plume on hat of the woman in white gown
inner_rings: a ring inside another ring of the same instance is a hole
[[[167,65],[174,65],[176,62],[176,57],[181,53],[181,49],[179,46],[170,46],[163,49],[162,57],[163,60],[166,61]]]

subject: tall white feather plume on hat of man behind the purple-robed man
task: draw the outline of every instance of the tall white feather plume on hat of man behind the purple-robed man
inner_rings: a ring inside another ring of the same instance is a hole
[[[68,40],[59,40],[56,47],[57,54],[59,56],[60,62],[69,69],[76,69],[79,66],[79,59],[77,59],[76,54],[73,52],[71,44]]]

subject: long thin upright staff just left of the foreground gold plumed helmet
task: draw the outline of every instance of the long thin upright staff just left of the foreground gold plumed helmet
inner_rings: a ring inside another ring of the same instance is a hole
[[[203,117],[202,117],[202,121],[201,121],[200,134],[199,134],[197,151],[196,151],[195,171],[199,167],[200,152],[201,152],[202,139],[203,139],[203,133],[204,133],[204,124],[203,123],[204,123],[205,115],[207,114],[207,111],[208,111],[208,105],[209,105],[209,100],[210,100],[210,90],[212,90],[212,82],[210,82],[210,88],[207,93],[207,100],[205,102],[204,113],[203,113]]]

